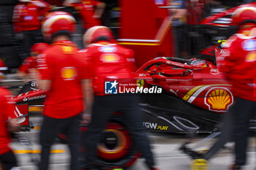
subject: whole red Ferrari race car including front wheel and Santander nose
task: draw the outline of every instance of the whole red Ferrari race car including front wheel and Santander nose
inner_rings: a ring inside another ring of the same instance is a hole
[[[222,60],[222,53],[225,52],[220,48],[214,52],[216,58],[212,61],[200,58],[154,58],[135,72],[139,88],[162,89],[162,93],[140,95],[143,125],[146,128],[179,134],[219,131],[217,123],[221,123],[235,98],[231,85],[217,69],[217,63]],[[20,94],[12,98],[17,103],[16,112],[21,117],[43,107],[46,93],[34,90],[37,88],[36,84],[34,81],[26,83]],[[137,152],[118,115],[120,113],[113,113],[113,119],[102,132],[102,139],[98,144],[99,161],[111,167],[129,167],[140,152]],[[25,123],[25,130],[29,130],[28,118],[20,120],[20,123]],[[255,122],[252,118],[251,127],[255,127]],[[86,127],[81,127],[80,130],[86,132]],[[59,134],[59,139],[65,140],[65,132]]]

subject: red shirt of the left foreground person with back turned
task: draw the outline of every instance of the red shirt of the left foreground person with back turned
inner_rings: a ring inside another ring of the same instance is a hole
[[[82,65],[79,64],[77,54],[75,44],[66,40],[53,42],[40,56],[38,67],[41,79],[51,80],[45,101],[45,115],[67,118],[83,111]]]

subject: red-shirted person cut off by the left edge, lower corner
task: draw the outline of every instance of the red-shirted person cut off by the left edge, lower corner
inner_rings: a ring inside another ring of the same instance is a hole
[[[1,67],[0,67],[1,69]],[[3,78],[2,72],[0,71],[0,82]],[[0,88],[0,169],[1,166],[4,170],[19,169],[17,167],[17,161],[15,155],[10,149],[10,132],[18,130],[18,122],[14,113],[14,106],[10,102],[10,91]]]

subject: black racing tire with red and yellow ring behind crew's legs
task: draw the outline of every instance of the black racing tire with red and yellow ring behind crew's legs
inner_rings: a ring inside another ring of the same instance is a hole
[[[80,128],[81,135],[83,136],[82,139],[86,138],[86,130],[87,128],[85,127]],[[64,134],[59,134],[58,139],[61,142],[67,141]],[[102,133],[98,148],[97,163],[105,165],[108,168],[128,168],[140,157],[140,152],[136,151],[136,147],[127,129],[124,128],[124,125],[116,121],[108,123],[108,128]],[[81,147],[80,151],[86,152],[86,148]]]

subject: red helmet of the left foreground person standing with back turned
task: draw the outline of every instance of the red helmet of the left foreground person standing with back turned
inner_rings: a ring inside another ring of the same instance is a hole
[[[42,24],[42,34],[45,39],[52,39],[59,31],[67,31],[69,34],[75,31],[75,18],[67,12],[50,12]]]

